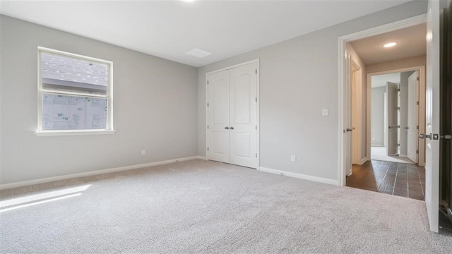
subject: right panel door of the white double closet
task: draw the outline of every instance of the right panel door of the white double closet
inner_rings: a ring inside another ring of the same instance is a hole
[[[230,163],[257,167],[256,63],[230,70]]]

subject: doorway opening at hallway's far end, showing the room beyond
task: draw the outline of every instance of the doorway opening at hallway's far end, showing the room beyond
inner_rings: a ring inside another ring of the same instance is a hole
[[[425,67],[367,73],[371,160],[424,166]]]

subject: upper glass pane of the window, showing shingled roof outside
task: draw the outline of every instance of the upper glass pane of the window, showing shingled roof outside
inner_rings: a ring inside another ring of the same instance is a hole
[[[107,95],[107,64],[42,52],[41,66],[44,90]]]

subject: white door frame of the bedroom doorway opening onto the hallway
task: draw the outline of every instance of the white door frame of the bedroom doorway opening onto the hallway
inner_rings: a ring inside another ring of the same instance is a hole
[[[402,28],[408,28],[413,25],[420,25],[427,22],[427,14],[422,14],[419,16],[414,16],[411,18],[406,18],[403,20],[398,20],[393,23],[388,23],[385,25],[380,25],[375,28],[369,28],[367,30],[362,30],[359,32],[354,32],[350,35],[344,35],[338,37],[338,185],[345,186],[345,171],[344,161],[345,161],[345,151],[343,150],[344,144],[344,134],[343,134],[343,124],[348,120],[346,119],[347,114],[345,114],[345,51],[347,42],[352,42],[354,40],[364,39],[366,37],[371,37],[374,35],[381,35],[386,32],[391,32],[394,30],[399,30]]]

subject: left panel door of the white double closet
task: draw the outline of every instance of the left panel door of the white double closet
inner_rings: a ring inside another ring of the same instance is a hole
[[[208,158],[230,162],[230,74],[229,71],[208,76]]]

